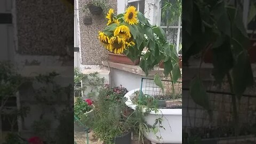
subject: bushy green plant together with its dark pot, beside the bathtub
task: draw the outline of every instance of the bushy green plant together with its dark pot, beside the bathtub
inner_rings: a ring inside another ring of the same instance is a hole
[[[95,106],[93,133],[106,144],[131,143],[132,124],[117,110],[124,105],[124,99],[119,99],[124,94],[120,93],[114,87],[101,89]]]

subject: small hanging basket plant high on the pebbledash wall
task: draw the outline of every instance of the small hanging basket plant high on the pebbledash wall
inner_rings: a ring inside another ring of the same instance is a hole
[[[107,7],[106,2],[102,0],[90,0],[85,6],[93,15],[105,14]]]

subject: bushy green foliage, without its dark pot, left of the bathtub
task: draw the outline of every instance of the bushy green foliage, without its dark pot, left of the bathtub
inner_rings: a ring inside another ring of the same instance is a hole
[[[122,101],[110,101],[106,99],[109,89],[100,90],[100,94],[95,105],[93,131],[95,135],[106,143],[111,142],[115,137],[131,131],[132,125],[121,116],[121,106],[125,106]],[[109,125],[111,124],[111,125]]]

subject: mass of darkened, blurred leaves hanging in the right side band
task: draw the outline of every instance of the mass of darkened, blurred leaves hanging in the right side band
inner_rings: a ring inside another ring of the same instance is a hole
[[[243,25],[242,12],[238,6],[226,5],[225,1],[184,1],[183,2],[183,61],[191,55],[201,54],[201,69],[204,55],[213,54],[213,76],[221,84],[228,79],[233,93],[234,126],[238,133],[237,101],[247,87],[253,85],[252,68],[247,48],[249,37]],[[199,73],[190,85],[191,98],[204,107],[211,116],[209,98]]]

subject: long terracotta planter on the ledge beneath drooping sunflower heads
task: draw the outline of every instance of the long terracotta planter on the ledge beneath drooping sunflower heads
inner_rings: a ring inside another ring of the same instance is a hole
[[[111,62],[124,63],[127,65],[133,65],[133,66],[136,66],[140,63],[140,59],[132,61],[124,54],[108,53],[108,55],[109,55],[109,61]]]

